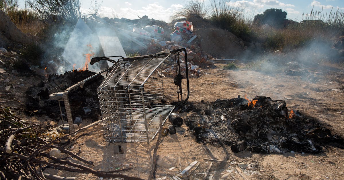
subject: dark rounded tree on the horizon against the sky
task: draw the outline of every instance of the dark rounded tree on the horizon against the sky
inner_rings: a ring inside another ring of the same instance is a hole
[[[282,28],[284,20],[287,19],[287,12],[282,9],[267,9],[262,14],[257,14],[253,20],[256,25],[268,24],[271,27]]]

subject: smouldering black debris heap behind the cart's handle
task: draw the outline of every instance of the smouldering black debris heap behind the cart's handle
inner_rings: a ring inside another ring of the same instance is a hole
[[[35,111],[36,115],[45,115],[50,118],[60,118],[58,101],[51,100],[49,95],[54,92],[63,92],[68,87],[96,74],[91,71],[69,71],[64,74],[47,75],[46,81],[41,81],[36,86],[26,90],[26,109]],[[85,83],[83,88],[78,87],[68,93],[73,117],[82,119],[98,119],[100,116],[99,99],[96,89],[104,80],[103,76],[97,76]],[[64,103],[61,101],[61,110],[65,117]]]

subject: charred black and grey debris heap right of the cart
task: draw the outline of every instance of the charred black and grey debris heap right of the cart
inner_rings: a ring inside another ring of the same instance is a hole
[[[186,122],[198,142],[232,145],[246,141],[251,152],[260,153],[320,153],[327,144],[344,147],[343,139],[317,120],[265,96],[217,99],[205,114],[190,113]]]

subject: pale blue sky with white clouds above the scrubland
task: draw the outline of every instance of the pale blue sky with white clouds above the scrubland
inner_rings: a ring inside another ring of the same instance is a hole
[[[214,0],[204,0],[207,7]],[[218,0],[215,0],[216,2]],[[80,0],[84,13],[94,12],[95,0]],[[98,16],[109,18],[138,19],[137,16],[147,15],[148,18],[171,21],[171,15],[187,4],[188,0],[97,0],[100,12]],[[314,10],[323,9],[323,13],[338,8],[344,12],[344,0],[231,0],[227,1],[231,6],[239,6],[245,9],[247,17],[254,17],[263,13],[266,9],[282,9],[288,13],[287,19],[302,21],[302,13],[307,14]],[[19,0],[23,6],[24,0]]]

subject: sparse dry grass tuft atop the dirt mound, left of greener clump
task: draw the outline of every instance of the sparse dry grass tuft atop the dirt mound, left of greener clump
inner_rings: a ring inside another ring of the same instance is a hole
[[[173,15],[173,18],[186,18],[191,17],[206,18],[208,14],[208,8],[204,5],[204,1],[191,0],[187,2],[187,5],[181,8]]]

